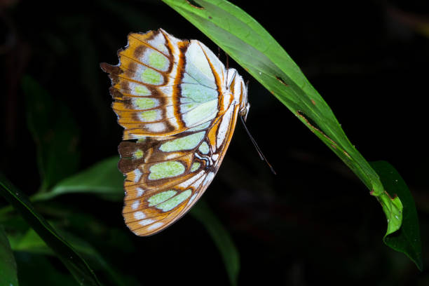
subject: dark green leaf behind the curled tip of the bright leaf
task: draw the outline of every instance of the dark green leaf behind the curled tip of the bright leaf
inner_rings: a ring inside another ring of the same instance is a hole
[[[381,182],[389,193],[399,196],[404,205],[403,223],[399,231],[384,236],[384,243],[398,252],[402,252],[414,261],[418,269],[423,270],[420,228],[413,196],[395,168],[386,161],[371,162],[372,168],[379,174]]]

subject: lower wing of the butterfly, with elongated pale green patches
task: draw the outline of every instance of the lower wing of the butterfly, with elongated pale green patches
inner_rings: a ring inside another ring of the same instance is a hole
[[[156,143],[153,139],[121,143],[119,166],[126,175],[127,191],[123,216],[134,233],[147,236],[161,231],[196,203],[222,162],[237,114],[238,106],[231,107],[210,128]],[[219,133],[222,126],[227,128],[224,135]]]

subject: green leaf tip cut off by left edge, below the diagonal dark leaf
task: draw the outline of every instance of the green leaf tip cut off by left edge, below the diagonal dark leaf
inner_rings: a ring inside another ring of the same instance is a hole
[[[0,225],[0,285],[18,286],[15,257],[3,226]]]

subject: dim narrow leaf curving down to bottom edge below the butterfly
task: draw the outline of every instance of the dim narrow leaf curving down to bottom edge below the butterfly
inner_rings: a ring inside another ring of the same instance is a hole
[[[219,252],[222,254],[226,272],[228,273],[231,285],[237,285],[238,272],[240,271],[240,254],[234,245],[228,231],[219,222],[216,215],[208,207],[204,200],[200,200],[190,211],[190,213],[205,226],[212,237]]]

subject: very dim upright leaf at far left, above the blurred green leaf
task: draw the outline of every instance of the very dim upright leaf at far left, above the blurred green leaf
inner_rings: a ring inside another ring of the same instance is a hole
[[[31,76],[22,78],[27,103],[27,125],[37,144],[41,191],[76,172],[79,130],[67,107],[55,103]]]

